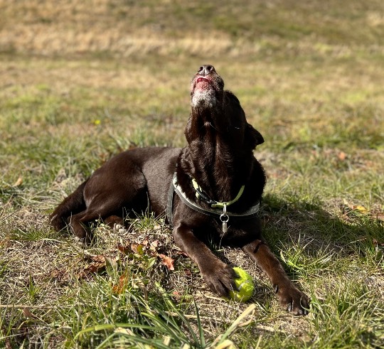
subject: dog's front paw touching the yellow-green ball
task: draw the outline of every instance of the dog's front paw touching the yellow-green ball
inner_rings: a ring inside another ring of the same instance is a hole
[[[238,277],[238,274],[221,261],[207,261],[206,265],[201,267],[201,274],[210,291],[221,297],[227,297],[229,291],[237,289],[234,279]]]

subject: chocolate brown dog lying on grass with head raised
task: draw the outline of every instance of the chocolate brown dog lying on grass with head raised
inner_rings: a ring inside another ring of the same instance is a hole
[[[107,161],[51,215],[56,230],[69,226],[85,242],[87,226],[102,218],[123,225],[129,211],[167,212],[176,245],[195,262],[210,290],[235,289],[233,269],[215,257],[206,237],[240,247],[269,276],[282,308],[306,314],[309,301],[290,281],[262,238],[257,210],[265,173],[253,156],[262,135],[245,119],[240,102],[224,90],[212,65],[191,81],[191,116],[183,149],[142,148]]]

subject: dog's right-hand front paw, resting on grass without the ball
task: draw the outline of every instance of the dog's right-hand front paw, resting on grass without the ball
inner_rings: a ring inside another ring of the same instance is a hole
[[[293,315],[307,315],[309,299],[302,291],[299,291],[293,284],[274,286],[274,291],[279,297],[280,306]]]

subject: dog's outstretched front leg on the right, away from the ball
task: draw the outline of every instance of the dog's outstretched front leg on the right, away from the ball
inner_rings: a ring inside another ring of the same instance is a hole
[[[270,278],[274,291],[279,297],[280,306],[294,315],[306,315],[309,308],[308,297],[289,280],[279,260],[262,240],[255,240],[242,247],[251,259]]]

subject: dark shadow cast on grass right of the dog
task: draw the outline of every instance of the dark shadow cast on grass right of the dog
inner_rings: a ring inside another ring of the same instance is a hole
[[[383,225],[366,211],[339,203],[335,212],[329,213],[324,205],[287,203],[276,195],[265,195],[260,217],[263,236],[272,251],[299,248],[309,256],[319,251],[348,255],[364,253],[383,240]]]

